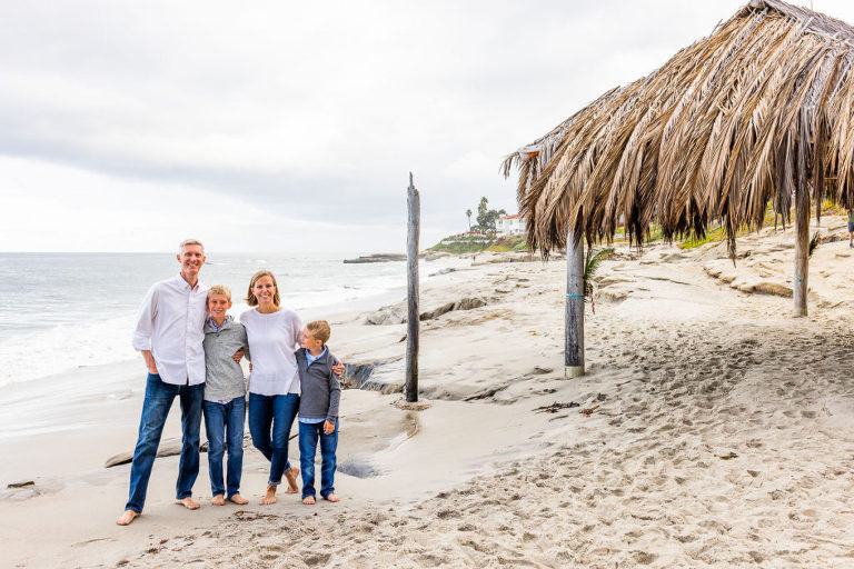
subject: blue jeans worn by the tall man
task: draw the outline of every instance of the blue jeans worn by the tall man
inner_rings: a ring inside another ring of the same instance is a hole
[[[176,396],[181,403],[182,443],[175,492],[179,500],[192,496],[192,485],[199,475],[199,430],[205,383],[173,386],[163,382],[160,376],[149,373],[142,417],[139,419],[139,437],[137,447],[133,449],[133,462],[130,466],[130,497],[125,506],[126,510],[142,512],[148,479],[151,477],[151,467],[155,466],[155,458],[157,458],[157,447],[160,445],[163,425]]]

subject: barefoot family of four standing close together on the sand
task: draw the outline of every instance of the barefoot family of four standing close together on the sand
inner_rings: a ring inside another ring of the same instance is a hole
[[[131,523],[142,513],[160,436],[177,397],[181,408],[181,456],[175,502],[199,508],[192,486],[199,473],[200,429],[205,417],[208,436],[211,503],[248,503],[240,496],[244,426],[247,417],[252,445],[270,462],[262,505],[276,502],[276,490],[287,481],[288,493],[300,491],[300,468],[288,460],[294,420],[299,425],[302,503],[315,503],[315,456],[320,445],[320,496],[339,501],[335,493],[338,445],[338,381],[344,365],[327,348],[329,325],[302,325],[280,306],[276,277],[256,272],[247,292],[251,310],[236,321],[228,315],[231,291],[205,287],[199,271],[205,247],[195,239],[180,243],[180,273],[152,286],[137,319],[133,348],[148,368],[139,437],[130,467],[130,496],[116,522]],[[250,361],[247,382],[240,360]],[[224,457],[228,456],[224,480]]]

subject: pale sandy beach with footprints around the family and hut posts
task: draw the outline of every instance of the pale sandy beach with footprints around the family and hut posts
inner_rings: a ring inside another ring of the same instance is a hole
[[[206,455],[202,508],[175,506],[165,457],[143,516],[119,528],[129,465],[103,463],[132,450],[141,360],[49,378],[51,398],[9,386],[2,565],[853,567],[854,250],[844,219],[814,229],[843,239],[815,251],[800,319],[791,230],[741,238],[736,266],[725,243],[617,242],[587,310],[588,375],[573,380],[562,260],[427,261],[454,270],[423,287],[423,311],[484,305],[423,322],[418,409],[395,392],[401,290],[302,315],[328,318],[332,351],[371,369],[373,389],[342,396],[335,505],[259,506],[267,466],[248,447],[249,506],[210,506]]]

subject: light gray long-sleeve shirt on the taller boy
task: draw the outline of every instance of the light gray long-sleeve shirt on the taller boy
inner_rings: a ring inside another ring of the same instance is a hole
[[[246,328],[231,316],[226,317],[217,331],[205,322],[205,400],[230,401],[246,396],[244,370],[231,356],[242,349],[249,359]]]

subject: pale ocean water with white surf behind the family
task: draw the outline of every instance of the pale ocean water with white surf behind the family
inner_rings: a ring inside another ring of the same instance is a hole
[[[261,269],[297,312],[406,286],[405,262],[344,264],[347,257],[209,254],[201,281],[231,289],[235,316],[249,308],[249,279]],[[0,386],[138,358],[130,342],[139,306],[178,270],[165,252],[0,253]]]

